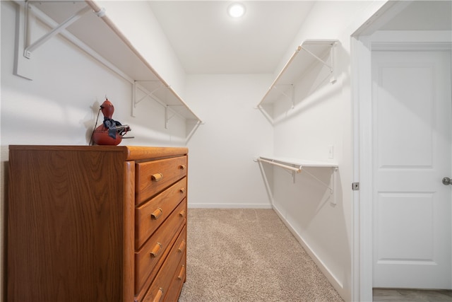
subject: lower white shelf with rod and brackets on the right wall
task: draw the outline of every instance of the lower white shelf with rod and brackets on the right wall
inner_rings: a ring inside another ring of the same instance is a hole
[[[259,156],[256,161],[258,163],[268,163],[270,165],[275,165],[280,168],[285,168],[292,172],[292,178],[295,182],[295,173],[302,173],[304,171],[309,176],[320,182],[323,186],[327,187],[330,190],[331,194],[331,204],[336,204],[335,199],[335,182],[336,182],[336,174],[338,173],[339,165],[337,163],[329,163],[323,161],[307,161],[299,158],[283,158],[283,157],[274,157],[274,156]],[[331,179],[330,183],[325,183],[319,178],[316,178],[315,175],[309,173],[309,171],[305,168],[331,168]]]

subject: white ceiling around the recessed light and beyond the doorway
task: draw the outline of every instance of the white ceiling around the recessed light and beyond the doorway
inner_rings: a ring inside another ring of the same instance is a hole
[[[241,1],[240,19],[227,16],[232,2],[149,1],[187,74],[275,72],[315,1]],[[413,1],[383,29],[451,30],[451,9],[451,0]]]

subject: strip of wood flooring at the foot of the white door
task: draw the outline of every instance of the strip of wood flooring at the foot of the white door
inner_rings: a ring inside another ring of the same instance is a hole
[[[374,302],[410,301],[441,302],[452,301],[452,291],[426,289],[374,289]]]

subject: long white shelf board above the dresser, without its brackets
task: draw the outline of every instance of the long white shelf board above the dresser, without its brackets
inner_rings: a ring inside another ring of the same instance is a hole
[[[28,4],[32,15],[52,28],[64,23],[84,6],[90,6],[80,20],[73,21],[61,30],[61,34],[127,81],[138,83],[141,90],[177,115],[201,123],[201,119],[109,20],[108,12],[102,11],[93,1],[28,1]],[[133,108],[138,103],[132,100]]]

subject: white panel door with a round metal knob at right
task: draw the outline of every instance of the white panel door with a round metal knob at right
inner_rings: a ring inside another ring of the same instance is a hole
[[[372,52],[374,287],[451,289],[451,52]]]

